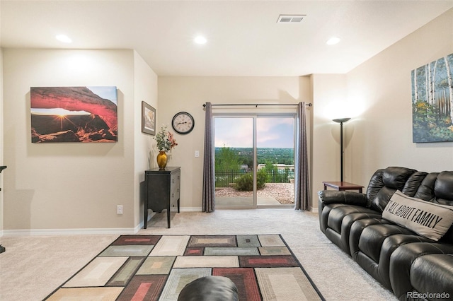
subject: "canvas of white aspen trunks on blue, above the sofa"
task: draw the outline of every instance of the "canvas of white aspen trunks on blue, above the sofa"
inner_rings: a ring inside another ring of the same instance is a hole
[[[453,54],[411,71],[414,143],[453,141]]]

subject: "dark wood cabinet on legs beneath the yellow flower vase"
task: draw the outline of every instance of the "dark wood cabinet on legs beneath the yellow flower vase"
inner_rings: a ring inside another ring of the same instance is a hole
[[[178,206],[179,213],[180,177],[180,167],[145,170],[144,229],[147,228],[149,209],[158,213],[166,209],[167,227],[170,228],[171,208]]]

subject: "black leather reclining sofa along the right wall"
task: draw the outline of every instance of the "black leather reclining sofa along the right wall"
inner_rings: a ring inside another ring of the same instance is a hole
[[[411,206],[390,206],[396,191],[453,211],[453,172],[387,167],[372,175],[366,194],[319,191],[321,231],[399,300],[453,300],[452,222],[443,219],[449,230],[437,240],[383,218],[383,212],[396,213],[430,227],[442,219]]]

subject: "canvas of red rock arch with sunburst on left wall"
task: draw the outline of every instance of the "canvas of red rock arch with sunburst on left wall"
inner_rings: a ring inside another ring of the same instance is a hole
[[[31,141],[116,142],[117,89],[31,87]]]

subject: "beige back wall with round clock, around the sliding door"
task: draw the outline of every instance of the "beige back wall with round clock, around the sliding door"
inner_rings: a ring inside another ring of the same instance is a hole
[[[221,103],[298,103],[309,102],[309,77],[159,77],[159,124],[171,124],[173,115],[186,111],[195,118],[188,135],[176,134],[178,146],[168,165],[181,167],[181,206],[200,211],[202,206],[202,167],[205,129],[205,102]],[[256,112],[235,109],[236,112]],[[272,112],[275,107],[270,107]],[[308,109],[310,110],[310,109]],[[214,113],[221,112],[214,110]],[[307,111],[310,116],[310,111]],[[200,151],[200,158],[195,158]],[[155,158],[155,155],[154,155]]]

